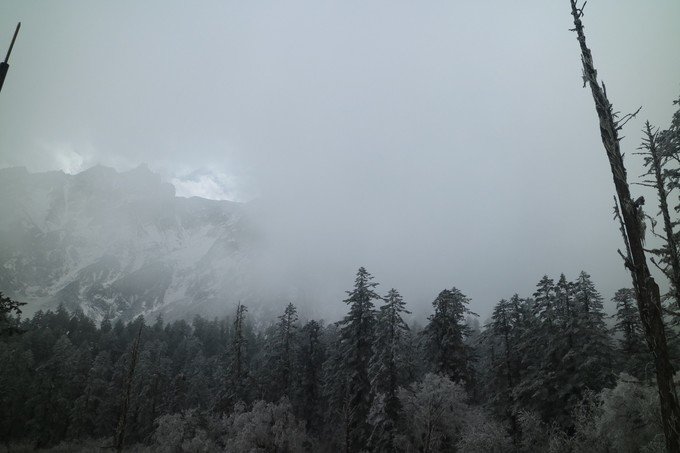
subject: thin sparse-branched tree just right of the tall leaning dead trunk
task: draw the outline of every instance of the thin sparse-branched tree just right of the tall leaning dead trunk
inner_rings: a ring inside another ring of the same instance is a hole
[[[680,308],[680,257],[678,256],[678,243],[676,241],[676,233],[673,231],[673,222],[671,222],[670,210],[668,208],[669,190],[666,188],[666,178],[664,176],[664,157],[661,151],[657,148],[657,132],[652,130],[649,121],[645,123],[645,128],[642,131],[645,136],[643,138],[640,148],[643,150],[640,154],[645,159],[645,166],[648,171],[645,175],[649,179],[643,180],[641,185],[656,189],[657,197],[659,199],[659,212],[663,218],[663,234],[658,234],[654,231],[656,222],[652,222],[652,231],[663,242],[662,249],[650,250],[651,253],[660,257],[660,263],[654,263],[661,272],[666,275],[672,285],[671,295],[675,299],[676,307]]]

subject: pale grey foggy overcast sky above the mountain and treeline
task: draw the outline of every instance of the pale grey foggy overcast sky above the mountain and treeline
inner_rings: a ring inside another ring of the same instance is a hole
[[[679,18],[586,8],[615,108],[643,106],[630,176],[642,121],[680,95]],[[412,306],[456,286],[483,315],[546,273],[630,285],[568,0],[4,0],[2,55],[17,21],[0,167],[147,163],[178,195],[257,197],[324,303],[360,265]]]

